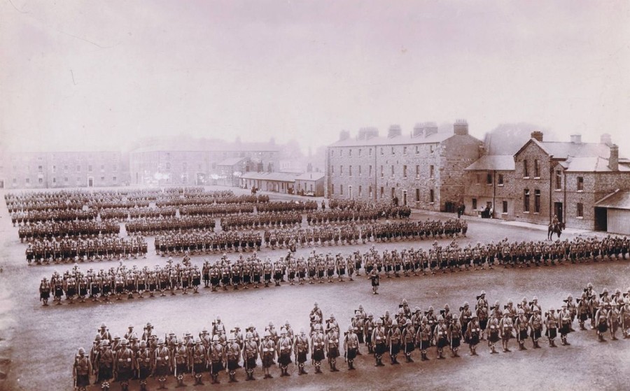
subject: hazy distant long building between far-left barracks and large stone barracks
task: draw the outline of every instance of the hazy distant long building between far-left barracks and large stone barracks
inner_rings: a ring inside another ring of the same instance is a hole
[[[137,185],[236,186],[241,173],[275,171],[278,161],[275,143],[194,140],[133,150],[130,171]]]

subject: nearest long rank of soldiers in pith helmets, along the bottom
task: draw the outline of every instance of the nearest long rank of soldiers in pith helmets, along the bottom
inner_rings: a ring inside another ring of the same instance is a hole
[[[310,362],[316,374],[321,374],[321,362],[327,360],[331,372],[337,372],[337,360],[344,357],[347,369],[355,368],[361,348],[374,357],[376,367],[383,367],[383,359],[388,355],[392,365],[400,364],[402,355],[407,363],[414,362],[413,353],[419,350],[421,361],[430,360],[428,350],[435,348],[437,360],[444,360],[444,350],[450,350],[452,357],[460,357],[459,348],[468,344],[471,356],[477,356],[477,346],[486,340],[489,353],[498,353],[496,343],[501,341],[503,353],[509,353],[510,341],[516,340],[519,350],[527,350],[526,342],[531,340],[533,348],[540,348],[539,340],[545,336],[549,347],[555,348],[555,339],[560,336],[562,345],[570,345],[568,334],[575,331],[575,318],[582,322],[583,308],[592,314],[591,329],[596,329],[600,341],[603,334],[610,332],[611,339],[621,329],[624,338],[630,337],[630,288],[628,292],[608,295],[604,289],[594,294],[589,283],[582,298],[573,301],[568,294],[563,299],[561,309],[549,307],[545,311],[538,304],[538,298],[528,301],[524,297],[514,305],[511,299],[505,305],[495,301],[492,306],[482,291],[477,295],[474,306],[465,301],[458,311],[451,311],[448,304],[438,311],[428,306],[423,311],[419,306],[409,305],[406,299],[398,304],[398,311],[391,315],[374,317],[362,305],[354,311],[348,326],[341,328],[334,314],[324,318],[321,308],[315,303],[309,313],[309,331],[293,331],[286,320],[280,329],[274,322],[259,333],[253,323],[243,331],[238,324],[228,328],[216,316],[211,327],[201,332],[186,332],[176,336],[174,332],[156,332],[151,322],[144,327],[141,336],[129,325],[127,332],[111,334],[102,323],[94,337],[92,348],[87,353],[80,348],[73,364],[75,385],[85,389],[93,376],[94,384],[109,389],[112,381],[120,382],[127,390],[130,381],[137,379],[141,390],[146,390],[148,379],[153,377],[160,388],[167,378],[173,376],[178,386],[186,385],[190,378],[194,385],[203,385],[204,376],[211,383],[221,383],[223,371],[230,383],[237,382],[241,368],[246,381],[255,380],[255,369],[262,367],[263,378],[272,378],[272,367],[278,364],[280,376],[290,376],[290,365],[297,365],[297,374],[308,374],[306,364]],[[587,303],[587,304],[585,304]],[[229,332],[228,332],[229,329]],[[343,335],[341,335],[343,330]]]

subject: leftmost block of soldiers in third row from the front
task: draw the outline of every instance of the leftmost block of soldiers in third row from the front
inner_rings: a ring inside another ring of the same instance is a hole
[[[121,260],[145,257],[147,243],[144,236],[119,238],[116,234],[78,236],[76,238],[36,239],[28,244],[25,253],[29,264],[50,262],[84,262]]]

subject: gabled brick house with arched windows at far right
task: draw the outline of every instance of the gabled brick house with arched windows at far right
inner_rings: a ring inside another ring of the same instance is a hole
[[[467,214],[491,203],[495,218],[547,224],[556,215],[567,227],[605,230],[605,215],[596,216],[597,201],[630,189],[630,162],[619,159],[608,135],[600,143],[582,143],[580,135],[549,142],[534,131],[513,162],[510,170],[508,157],[484,156],[468,166]]]

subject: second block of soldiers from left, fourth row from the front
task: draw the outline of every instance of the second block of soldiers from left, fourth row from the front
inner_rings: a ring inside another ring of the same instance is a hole
[[[188,231],[190,229],[214,230],[216,221],[209,216],[181,216],[141,218],[125,223],[127,234],[151,235],[162,231]]]

